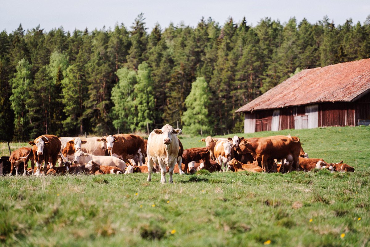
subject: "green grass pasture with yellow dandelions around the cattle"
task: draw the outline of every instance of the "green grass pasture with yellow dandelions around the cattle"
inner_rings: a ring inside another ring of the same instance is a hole
[[[310,157],[344,160],[355,172],[203,172],[175,174],[174,184],[165,185],[159,184],[160,174],[151,183],[147,174],[2,177],[0,241],[6,246],[370,246],[370,127],[239,135],[289,133],[301,139]],[[199,140],[181,138],[184,148],[204,146]],[[0,145],[1,155],[9,155],[7,144]]]

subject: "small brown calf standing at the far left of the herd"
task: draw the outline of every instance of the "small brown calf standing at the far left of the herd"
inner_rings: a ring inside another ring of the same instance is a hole
[[[16,168],[16,176],[18,176],[18,167],[20,163],[23,161],[24,169],[23,169],[23,176],[27,173],[28,161],[31,160],[31,166],[35,167],[35,161],[33,157],[32,149],[29,147],[21,147],[16,151],[13,151],[11,156],[9,157],[9,161],[11,164],[9,176],[13,173],[13,168]]]

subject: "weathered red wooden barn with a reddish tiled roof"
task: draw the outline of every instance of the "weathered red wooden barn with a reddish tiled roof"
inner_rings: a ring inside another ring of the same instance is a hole
[[[240,107],[244,133],[370,121],[370,59],[302,70]]]

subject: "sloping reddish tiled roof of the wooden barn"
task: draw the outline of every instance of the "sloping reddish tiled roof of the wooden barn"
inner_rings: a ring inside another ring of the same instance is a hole
[[[370,59],[302,70],[236,112],[352,102],[370,91]]]

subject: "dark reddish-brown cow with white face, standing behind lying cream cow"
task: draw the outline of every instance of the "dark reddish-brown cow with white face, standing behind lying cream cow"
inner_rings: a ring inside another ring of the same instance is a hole
[[[106,138],[107,150],[110,156],[127,161],[138,154],[139,165],[145,162],[145,141],[142,137],[133,134],[118,134]]]

